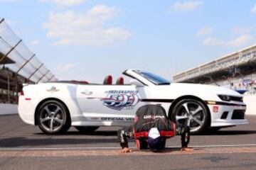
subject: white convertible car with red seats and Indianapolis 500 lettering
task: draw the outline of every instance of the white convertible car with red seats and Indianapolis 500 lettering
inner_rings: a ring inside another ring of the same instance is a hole
[[[100,126],[132,124],[137,109],[146,104],[161,105],[178,123],[187,118],[192,132],[248,123],[245,103],[237,92],[218,86],[170,83],[150,72],[128,69],[131,78],[124,84],[119,77],[112,84],[107,76],[103,84],[86,81],[56,81],[23,86],[18,113],[28,124],[54,134],[74,126],[92,132]]]

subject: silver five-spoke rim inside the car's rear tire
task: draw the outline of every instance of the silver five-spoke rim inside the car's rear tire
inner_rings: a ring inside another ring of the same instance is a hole
[[[58,131],[63,127],[65,113],[60,106],[50,103],[44,106],[40,113],[42,127],[48,132]]]

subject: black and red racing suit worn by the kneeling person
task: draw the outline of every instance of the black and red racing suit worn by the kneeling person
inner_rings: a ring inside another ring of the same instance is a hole
[[[138,109],[136,113],[134,125],[124,127],[118,130],[117,136],[120,146],[122,148],[129,147],[128,139],[134,139],[136,138],[136,133],[142,131],[149,132],[151,128],[155,127],[159,129],[160,133],[161,130],[175,131],[176,134],[181,135],[181,147],[188,147],[188,143],[190,140],[190,127],[188,126],[187,120],[183,120],[181,123],[176,125],[175,129],[173,129],[173,127],[171,126],[171,121],[166,117],[164,108],[156,105],[142,106],[142,109]],[[146,148],[144,147],[143,149]]]

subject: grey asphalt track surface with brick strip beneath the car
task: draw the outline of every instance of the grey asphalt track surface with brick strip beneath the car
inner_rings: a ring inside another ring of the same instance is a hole
[[[191,136],[192,152],[179,151],[176,136],[161,153],[121,154],[118,128],[45,135],[18,115],[1,115],[0,169],[256,169],[256,116],[247,119],[249,125]]]

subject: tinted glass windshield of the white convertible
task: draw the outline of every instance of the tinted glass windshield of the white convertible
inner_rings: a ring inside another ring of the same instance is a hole
[[[164,85],[164,84],[171,83],[169,80],[159,77],[158,75],[153,74],[151,72],[144,72],[144,71],[139,71],[139,70],[134,70],[134,72],[136,72],[140,76],[144,77],[145,79],[147,79],[157,85]]]

